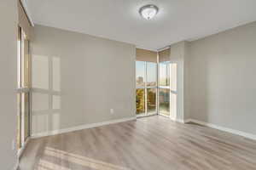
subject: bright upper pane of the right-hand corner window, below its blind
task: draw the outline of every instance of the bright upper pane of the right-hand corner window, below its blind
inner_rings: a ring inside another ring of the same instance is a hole
[[[170,62],[162,62],[159,65],[159,85],[170,86]]]

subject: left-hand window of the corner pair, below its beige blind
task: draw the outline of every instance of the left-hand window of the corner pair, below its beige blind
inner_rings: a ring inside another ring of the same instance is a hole
[[[137,116],[157,113],[157,64],[136,61],[136,105]]]

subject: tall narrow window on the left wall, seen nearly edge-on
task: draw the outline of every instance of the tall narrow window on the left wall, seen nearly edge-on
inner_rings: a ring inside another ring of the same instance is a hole
[[[19,28],[18,37],[18,150],[30,135],[30,55],[29,41]]]

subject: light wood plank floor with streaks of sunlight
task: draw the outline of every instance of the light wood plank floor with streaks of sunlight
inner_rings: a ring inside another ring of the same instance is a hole
[[[163,116],[32,139],[20,170],[255,170],[256,141]]]

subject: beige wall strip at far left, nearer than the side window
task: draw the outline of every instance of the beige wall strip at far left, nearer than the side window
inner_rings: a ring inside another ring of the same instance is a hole
[[[17,128],[17,1],[0,1],[0,20],[0,167],[10,170],[17,161],[12,148]]]

